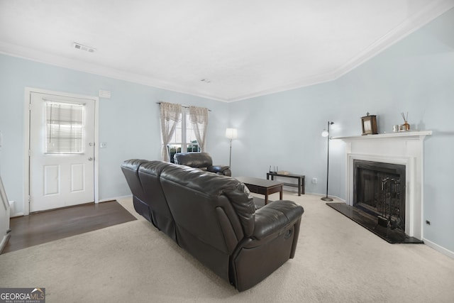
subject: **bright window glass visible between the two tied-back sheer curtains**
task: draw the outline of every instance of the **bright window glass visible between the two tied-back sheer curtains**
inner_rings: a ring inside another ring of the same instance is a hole
[[[175,153],[196,153],[200,152],[199,143],[197,143],[194,128],[189,121],[189,111],[183,109],[182,121],[177,123],[175,133],[169,143],[170,159],[173,160]]]

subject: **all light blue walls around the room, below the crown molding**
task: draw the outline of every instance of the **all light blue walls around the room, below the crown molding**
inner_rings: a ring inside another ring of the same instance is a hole
[[[99,89],[111,91],[112,98],[101,99],[99,106],[99,139],[108,146],[99,150],[100,199],[129,194],[119,170],[123,160],[159,158],[155,102],[160,100],[212,110],[208,150],[217,163],[228,162],[225,128],[238,128],[233,175],[265,177],[269,166],[277,165],[306,175],[306,192],[319,194],[326,188],[326,138],[320,133],[327,121],[335,121],[331,136],[355,136],[361,133],[360,117],[369,111],[378,116],[382,133],[402,123],[399,113],[408,111],[412,129],[433,131],[424,143],[423,219],[431,226],[424,226],[423,235],[454,252],[453,29],[450,10],[336,81],[231,104],[0,55],[0,172],[6,191],[9,199],[23,201],[25,87],[93,96]],[[331,195],[345,198],[344,178],[344,145],[331,141]]]

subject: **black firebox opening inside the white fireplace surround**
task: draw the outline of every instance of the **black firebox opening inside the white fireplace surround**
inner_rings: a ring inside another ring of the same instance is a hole
[[[353,160],[353,206],[405,232],[405,165]]]

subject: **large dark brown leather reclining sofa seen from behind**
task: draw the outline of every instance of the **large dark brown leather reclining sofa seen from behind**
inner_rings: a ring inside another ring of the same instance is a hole
[[[121,169],[135,211],[238,291],[294,258],[302,206],[256,210],[245,184],[184,165],[133,159]]]

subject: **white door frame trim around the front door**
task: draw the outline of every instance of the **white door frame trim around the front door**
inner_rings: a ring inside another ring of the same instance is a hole
[[[94,100],[94,203],[99,203],[98,174],[99,174],[99,97],[87,96],[82,94],[71,94],[67,92],[51,91],[49,89],[37,89],[33,87],[25,88],[24,97],[24,127],[23,127],[23,214],[30,214],[30,98],[31,93],[55,94],[57,96],[82,98]]]

